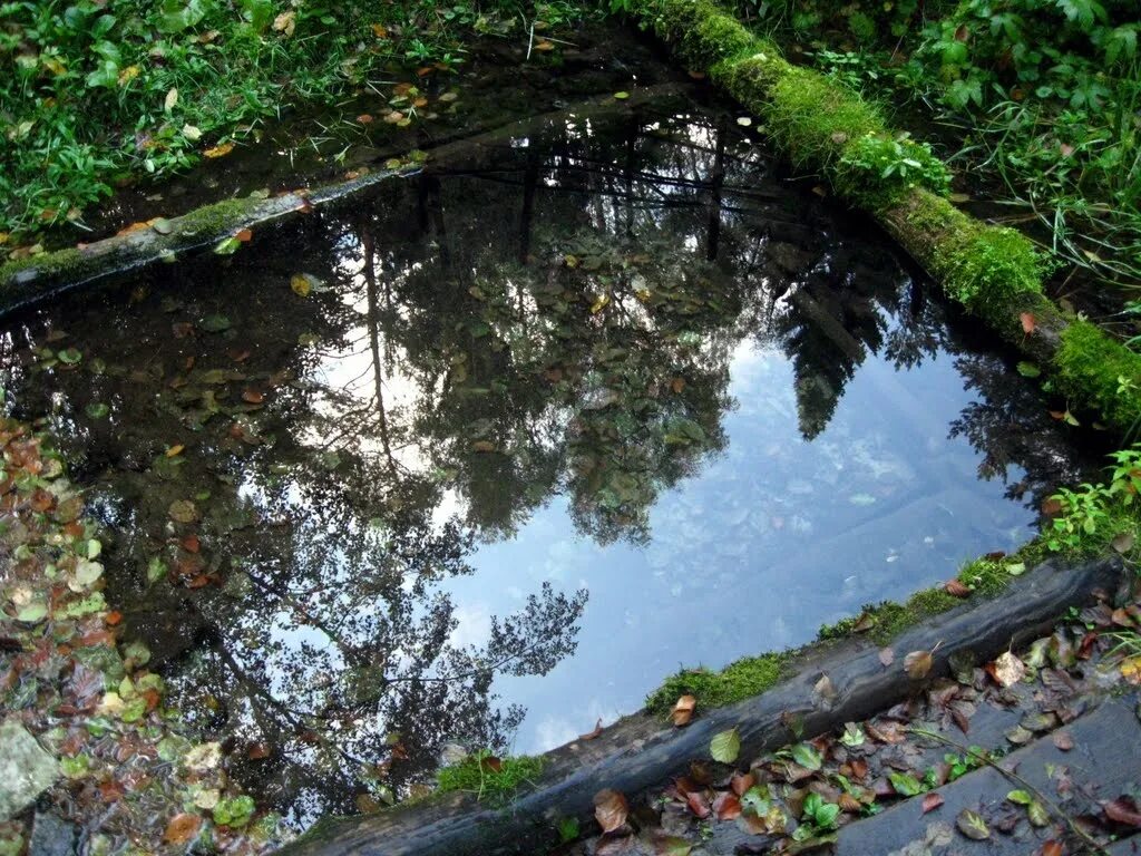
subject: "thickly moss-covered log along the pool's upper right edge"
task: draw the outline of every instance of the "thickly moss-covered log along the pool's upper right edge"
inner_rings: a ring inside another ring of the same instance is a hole
[[[946,168],[843,84],[784,59],[711,0],[633,0],[632,13],[761,120],[793,164],[872,215],[953,300],[1047,371],[1057,391],[1128,433],[1141,423],[1141,355],[1042,294],[1047,260],[1019,232],[955,208]],[[925,167],[885,176],[869,143]],[[1123,383],[1124,380],[1124,383]],[[1131,386],[1132,385],[1132,386]]]

